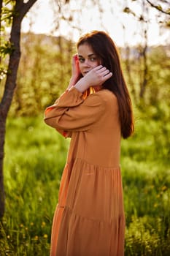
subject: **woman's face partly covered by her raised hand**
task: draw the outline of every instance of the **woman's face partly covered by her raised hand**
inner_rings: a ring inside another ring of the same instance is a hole
[[[85,76],[91,69],[101,64],[101,60],[96,56],[96,53],[94,53],[88,43],[80,45],[77,49],[77,54],[82,76]]]

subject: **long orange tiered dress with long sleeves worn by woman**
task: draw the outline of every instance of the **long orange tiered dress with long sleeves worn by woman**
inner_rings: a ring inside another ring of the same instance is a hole
[[[45,123],[71,137],[50,256],[123,256],[125,214],[115,94],[102,89],[84,99],[73,87],[45,110]]]

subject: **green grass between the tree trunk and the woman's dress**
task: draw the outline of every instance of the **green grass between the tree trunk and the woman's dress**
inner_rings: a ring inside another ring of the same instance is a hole
[[[50,228],[68,143],[42,118],[7,122],[2,255],[49,254]]]

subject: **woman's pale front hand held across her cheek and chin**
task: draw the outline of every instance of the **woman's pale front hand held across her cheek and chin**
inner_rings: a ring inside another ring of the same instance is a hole
[[[90,86],[101,86],[106,80],[112,77],[112,72],[106,67],[99,65],[91,69],[83,78],[81,78],[75,87],[78,91],[84,92]]]

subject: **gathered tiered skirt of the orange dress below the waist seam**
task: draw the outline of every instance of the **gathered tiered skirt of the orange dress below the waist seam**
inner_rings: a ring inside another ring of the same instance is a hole
[[[82,159],[67,163],[53,219],[51,255],[123,255],[124,230],[120,168]]]

